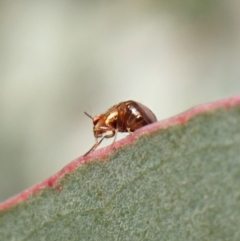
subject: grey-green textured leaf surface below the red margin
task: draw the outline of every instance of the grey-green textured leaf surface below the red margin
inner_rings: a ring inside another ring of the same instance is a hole
[[[160,124],[0,211],[0,240],[240,240],[240,102]]]

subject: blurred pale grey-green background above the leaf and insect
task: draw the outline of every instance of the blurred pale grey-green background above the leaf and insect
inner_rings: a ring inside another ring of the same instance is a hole
[[[92,146],[84,111],[161,120],[240,93],[236,0],[11,0],[0,19],[0,201]]]

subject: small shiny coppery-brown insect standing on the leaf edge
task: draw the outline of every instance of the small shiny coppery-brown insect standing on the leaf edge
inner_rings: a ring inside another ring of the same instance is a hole
[[[134,132],[145,125],[157,121],[151,110],[133,100],[120,102],[105,113],[95,117],[90,116],[86,112],[84,113],[93,121],[93,134],[96,140],[92,148],[84,156],[94,151],[105,138],[114,136],[114,143],[117,132]],[[103,133],[107,131],[111,133],[103,136]],[[98,138],[101,138],[100,141],[98,141]]]

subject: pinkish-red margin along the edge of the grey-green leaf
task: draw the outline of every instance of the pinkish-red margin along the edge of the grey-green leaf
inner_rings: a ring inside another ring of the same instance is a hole
[[[107,146],[104,148],[101,148],[99,150],[96,150],[87,156],[80,156],[76,158],[75,160],[71,161],[69,164],[67,164],[65,167],[63,167],[59,172],[54,174],[53,176],[47,178],[46,180],[39,182],[35,184],[34,186],[24,190],[23,192],[7,199],[6,201],[0,203],[0,211],[3,209],[10,208],[11,206],[24,201],[32,194],[36,193],[38,190],[43,189],[45,187],[53,187],[53,188],[61,188],[58,187],[58,185],[55,185],[59,178],[61,178],[64,174],[73,171],[76,166],[79,164],[83,164],[84,162],[90,161],[94,158],[98,159],[106,159],[106,156],[116,148],[128,145],[132,143],[135,139],[135,137],[140,136],[144,133],[154,133],[159,129],[164,129],[169,126],[173,126],[176,124],[184,124],[187,120],[189,120],[191,117],[204,113],[209,112],[217,108],[225,108],[229,109],[230,107],[234,105],[240,105],[240,95],[239,96],[233,96],[227,99],[217,100],[214,102],[202,104],[196,107],[193,107],[181,114],[178,114],[176,116],[170,117],[168,119],[158,121],[156,123],[153,123],[151,125],[145,126],[137,131],[135,131],[132,135],[128,135],[125,138],[117,141],[114,143],[114,148],[112,146]]]

